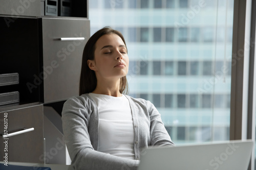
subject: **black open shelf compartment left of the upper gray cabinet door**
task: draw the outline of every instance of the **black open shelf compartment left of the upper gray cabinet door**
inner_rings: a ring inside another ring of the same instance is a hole
[[[39,101],[38,19],[0,17],[0,74],[17,73],[19,83],[1,86],[0,93],[19,92],[19,104]],[[17,104],[18,105],[18,104]]]

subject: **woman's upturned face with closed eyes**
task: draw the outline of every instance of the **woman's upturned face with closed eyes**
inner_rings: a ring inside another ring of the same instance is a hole
[[[125,44],[118,35],[105,34],[95,46],[94,60],[88,60],[88,66],[95,71],[97,80],[117,80],[127,75],[129,58]]]

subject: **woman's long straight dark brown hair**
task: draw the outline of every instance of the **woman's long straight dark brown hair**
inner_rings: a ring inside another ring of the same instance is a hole
[[[97,40],[105,34],[118,35],[123,40],[123,43],[125,44],[125,47],[126,47],[126,43],[123,38],[123,35],[119,31],[113,30],[110,27],[104,27],[103,29],[94,33],[89,38],[89,40],[86,43],[86,46],[83,49],[83,54],[82,54],[82,68],[81,68],[81,75],[80,75],[79,95],[84,93],[90,93],[96,88],[97,78],[94,70],[91,70],[89,68],[87,61],[94,60],[94,52],[96,48],[95,44]],[[125,93],[125,94],[127,94],[129,91],[126,76],[120,78],[119,91],[120,93]]]

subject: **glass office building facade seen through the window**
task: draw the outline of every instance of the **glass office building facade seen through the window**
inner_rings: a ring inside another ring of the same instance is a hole
[[[176,144],[229,140],[232,0],[89,4],[91,34],[122,32],[130,95],[157,107]]]

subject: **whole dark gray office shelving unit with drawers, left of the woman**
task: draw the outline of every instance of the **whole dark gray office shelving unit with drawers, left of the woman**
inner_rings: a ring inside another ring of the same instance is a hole
[[[52,155],[55,156],[53,159],[47,159],[46,153],[55,147],[62,135],[54,121],[58,124],[61,121],[63,103],[79,94],[82,52],[90,37],[88,1],[0,0],[0,4],[0,75],[19,75],[18,84],[0,86],[0,94],[19,92],[19,102],[0,105],[0,134],[4,133],[4,115],[7,113],[10,115],[8,128],[11,131],[29,128],[28,125],[40,122],[35,132],[41,134],[36,137],[40,142],[33,139],[34,132],[11,136],[9,141],[12,147],[8,153],[20,156],[10,156],[8,161],[68,163],[65,147],[59,154]],[[48,7],[52,9],[47,11]],[[53,9],[55,15],[49,14]],[[60,40],[76,37],[83,39]],[[37,109],[31,112],[31,108]],[[49,116],[51,114],[54,118]],[[14,117],[20,122],[18,126],[13,122]],[[49,125],[56,134],[49,134]],[[23,145],[34,149],[28,149],[26,156],[22,156],[24,151],[16,150],[16,146]],[[3,148],[0,149],[3,151]],[[0,152],[1,157],[3,154]]]

